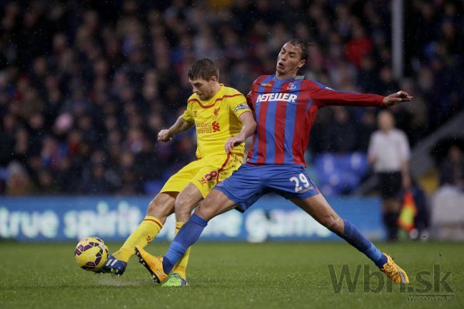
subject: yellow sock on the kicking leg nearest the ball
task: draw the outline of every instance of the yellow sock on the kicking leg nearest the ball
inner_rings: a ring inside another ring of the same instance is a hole
[[[158,218],[146,216],[127,238],[123,246],[113,253],[113,256],[118,260],[127,262],[135,254],[134,248],[136,248],[136,245],[141,247],[148,245],[158,235],[161,228],[163,228],[163,223]]]

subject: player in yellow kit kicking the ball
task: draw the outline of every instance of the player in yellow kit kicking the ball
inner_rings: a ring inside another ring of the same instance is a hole
[[[109,256],[104,273],[122,275],[136,245],[144,247],[156,237],[167,216],[176,212],[176,232],[190,218],[191,211],[243,163],[244,141],[256,129],[246,98],[234,88],[218,82],[219,70],[209,59],[196,61],[188,71],[193,94],[187,108],[171,128],[158,133],[158,141],[170,141],[177,133],[196,126],[197,160],[171,176],[160,193],[148,204],[146,217],[123,246]],[[168,286],[187,285],[186,265],[190,249],[179,261]]]

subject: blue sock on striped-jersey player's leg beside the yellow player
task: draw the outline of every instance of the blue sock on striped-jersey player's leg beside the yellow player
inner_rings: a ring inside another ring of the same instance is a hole
[[[174,265],[183,257],[188,247],[196,243],[196,240],[200,238],[201,232],[203,232],[203,228],[207,224],[208,221],[193,213],[190,219],[178,231],[169,246],[168,252],[163,256],[164,273],[171,273]]]

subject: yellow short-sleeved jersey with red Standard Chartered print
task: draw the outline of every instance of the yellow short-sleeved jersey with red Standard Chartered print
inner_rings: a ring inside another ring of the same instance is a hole
[[[188,122],[195,122],[197,158],[225,154],[224,144],[227,139],[241,131],[242,125],[238,117],[251,111],[242,93],[222,83],[212,98],[202,101],[193,93],[187,102],[183,118]],[[245,143],[234,147],[232,153],[245,156]]]

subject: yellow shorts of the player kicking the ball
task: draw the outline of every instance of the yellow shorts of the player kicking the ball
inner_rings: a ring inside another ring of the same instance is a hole
[[[193,183],[204,198],[219,181],[231,176],[242,163],[243,157],[232,153],[198,159],[171,176],[161,192],[181,192],[188,183]]]

